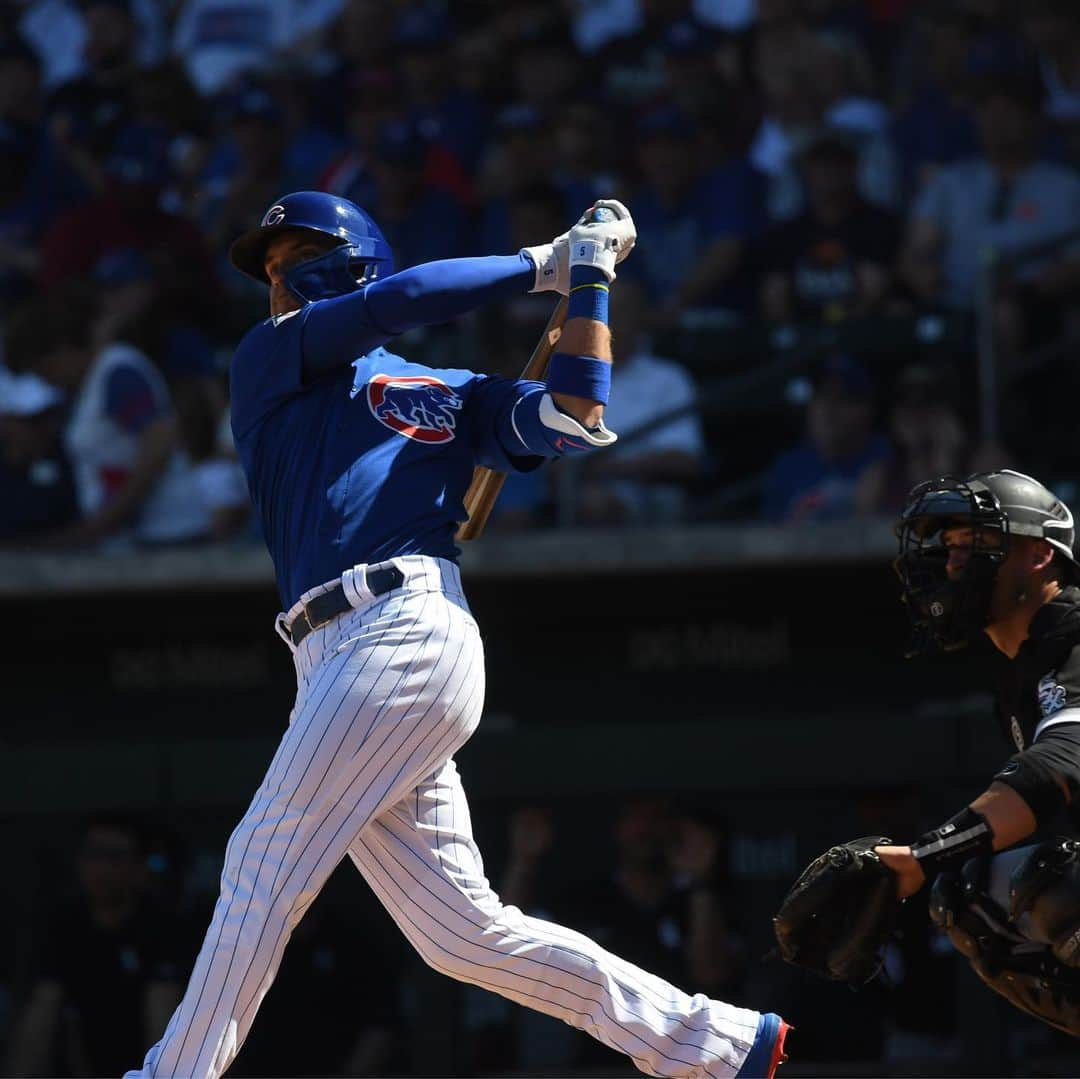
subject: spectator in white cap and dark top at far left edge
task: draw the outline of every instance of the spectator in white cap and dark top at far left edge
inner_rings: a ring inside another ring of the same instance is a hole
[[[32,543],[79,515],[60,444],[64,394],[30,372],[0,367],[0,543]]]

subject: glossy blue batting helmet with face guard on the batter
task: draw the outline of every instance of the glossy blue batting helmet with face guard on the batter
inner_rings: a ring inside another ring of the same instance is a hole
[[[242,273],[269,284],[267,247],[280,232],[302,231],[334,240],[325,255],[298,262],[285,274],[289,289],[305,302],[355,292],[368,281],[394,272],[394,256],[378,225],[360,206],[325,191],[294,191],[264,215],[259,227],[229,248],[229,260]]]

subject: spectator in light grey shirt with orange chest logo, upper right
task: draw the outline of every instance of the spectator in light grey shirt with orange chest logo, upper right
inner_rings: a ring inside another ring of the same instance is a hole
[[[1040,161],[1038,84],[993,78],[980,94],[982,154],[942,168],[910,211],[902,271],[922,302],[970,310],[987,255],[1021,254],[1061,239],[1015,267],[995,300],[998,346],[1008,360],[1038,334],[1053,334],[1080,288],[1080,177]]]

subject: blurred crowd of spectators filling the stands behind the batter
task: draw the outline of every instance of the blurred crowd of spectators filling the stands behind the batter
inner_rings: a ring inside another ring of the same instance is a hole
[[[990,464],[1068,481],[1047,388],[1077,389],[1078,164],[1074,0],[15,0],[0,543],[257,540],[227,370],[266,298],[226,252],[311,188],[399,266],[631,206],[623,441],[515,477],[492,527],[888,515]],[[550,307],[401,351],[516,373]],[[747,372],[775,373],[764,405]]]

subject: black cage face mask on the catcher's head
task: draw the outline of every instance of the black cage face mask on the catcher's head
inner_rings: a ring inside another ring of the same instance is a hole
[[[953,578],[946,574],[950,528],[971,529],[970,556]],[[914,631],[908,656],[931,646],[962,648],[989,621],[994,582],[1009,556],[1009,517],[997,496],[976,476],[930,480],[908,495],[896,537],[900,553],[892,565]]]

